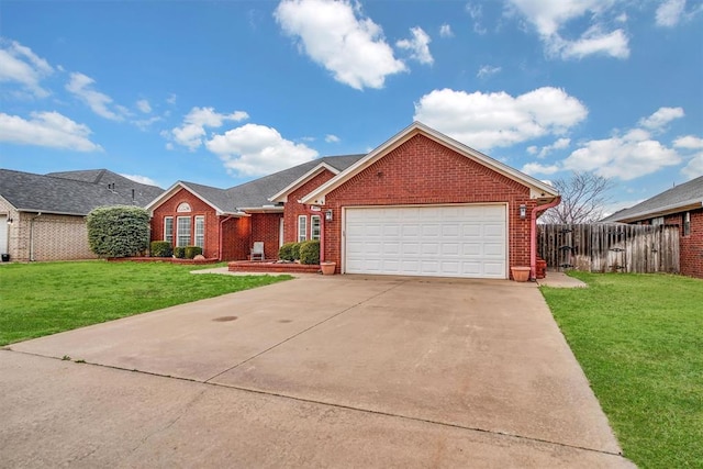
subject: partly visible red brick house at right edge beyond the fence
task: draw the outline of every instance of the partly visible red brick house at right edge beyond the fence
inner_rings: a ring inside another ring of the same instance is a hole
[[[681,273],[703,278],[703,176],[613,213],[602,222],[679,226]]]

